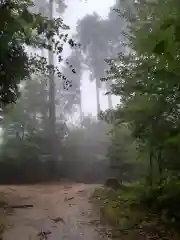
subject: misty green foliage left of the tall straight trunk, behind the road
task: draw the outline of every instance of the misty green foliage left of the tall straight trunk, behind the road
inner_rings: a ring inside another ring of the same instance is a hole
[[[64,122],[56,123],[58,146],[56,175],[52,174],[52,152],[47,148],[49,138],[49,103],[44,76],[25,82],[20,99],[5,114],[2,121],[0,182],[37,182],[61,176],[59,160],[62,141],[68,128]],[[34,168],[37,170],[34,171]],[[33,174],[32,174],[33,173]]]

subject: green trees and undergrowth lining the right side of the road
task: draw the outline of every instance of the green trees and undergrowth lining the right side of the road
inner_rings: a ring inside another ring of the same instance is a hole
[[[121,103],[104,116],[113,122],[108,157],[119,178],[124,172],[131,177],[136,167],[133,177],[144,183],[96,195],[102,215],[118,229],[173,239],[180,229],[179,1],[131,2],[124,12],[117,9],[127,19],[128,51],[112,59],[106,79]],[[122,138],[122,128],[128,138]]]

